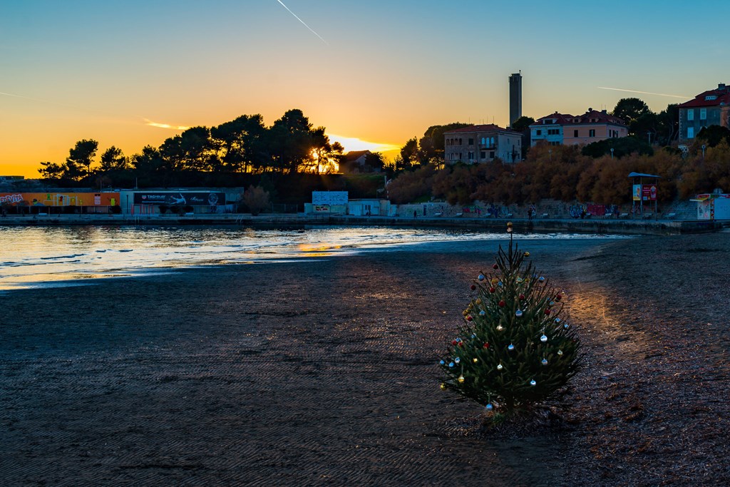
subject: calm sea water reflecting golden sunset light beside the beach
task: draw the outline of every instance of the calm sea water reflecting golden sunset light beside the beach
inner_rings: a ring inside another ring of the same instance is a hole
[[[410,250],[434,242],[505,240],[507,234],[446,229],[317,227],[0,227],[0,290],[78,285],[88,279],[184,266],[253,264]],[[617,239],[615,235],[526,234],[523,239]],[[417,246],[414,248],[414,246]]]

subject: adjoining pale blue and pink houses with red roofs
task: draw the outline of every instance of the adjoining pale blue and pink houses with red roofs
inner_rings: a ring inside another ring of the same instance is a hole
[[[547,142],[550,145],[585,145],[605,139],[629,135],[629,127],[621,118],[606,110],[589,108],[583,115],[555,112],[538,118],[530,126],[531,145]]]

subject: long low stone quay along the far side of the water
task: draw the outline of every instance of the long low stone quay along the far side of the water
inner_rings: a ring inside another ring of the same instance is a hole
[[[387,217],[303,214],[205,214],[195,215],[8,215],[0,226],[426,226],[461,229],[497,229],[507,221],[516,231],[576,232],[594,234],[676,235],[721,231],[730,222],[708,220],[630,220],[617,218],[470,218],[470,217]]]

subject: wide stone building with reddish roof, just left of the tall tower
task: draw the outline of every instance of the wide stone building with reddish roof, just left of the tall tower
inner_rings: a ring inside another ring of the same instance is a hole
[[[522,134],[493,123],[470,125],[444,133],[446,164],[476,164],[500,158],[504,162],[522,160]]]

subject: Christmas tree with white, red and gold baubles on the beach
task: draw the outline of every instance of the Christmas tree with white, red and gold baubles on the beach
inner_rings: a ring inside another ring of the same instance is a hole
[[[563,391],[579,367],[580,342],[561,316],[563,293],[532,266],[528,252],[502,245],[474,284],[464,324],[440,361],[444,390],[499,417],[526,413]]]

